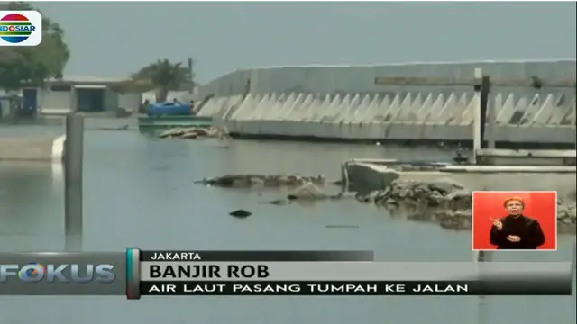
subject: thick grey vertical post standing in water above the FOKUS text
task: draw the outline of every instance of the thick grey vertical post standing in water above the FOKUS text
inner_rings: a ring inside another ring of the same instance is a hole
[[[64,143],[64,229],[66,250],[82,250],[83,204],[82,174],[84,160],[84,119],[70,113],[66,117]]]

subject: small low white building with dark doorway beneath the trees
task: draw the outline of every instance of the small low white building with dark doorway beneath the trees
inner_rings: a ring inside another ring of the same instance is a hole
[[[46,81],[42,87],[24,87],[23,109],[39,114],[107,112],[123,108],[137,111],[142,92],[120,92],[125,78],[64,77]]]

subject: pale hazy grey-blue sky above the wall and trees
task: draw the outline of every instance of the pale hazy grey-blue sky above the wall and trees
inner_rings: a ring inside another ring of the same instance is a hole
[[[68,76],[169,58],[242,67],[575,58],[575,3],[33,3],[66,31]]]

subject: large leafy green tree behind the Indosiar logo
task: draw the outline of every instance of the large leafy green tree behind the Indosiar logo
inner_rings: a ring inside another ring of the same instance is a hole
[[[0,10],[36,10],[30,4],[0,4]],[[42,42],[35,47],[0,48],[0,88],[18,89],[24,82],[41,85],[46,79],[62,77],[70,58],[64,31],[50,18],[42,17]]]

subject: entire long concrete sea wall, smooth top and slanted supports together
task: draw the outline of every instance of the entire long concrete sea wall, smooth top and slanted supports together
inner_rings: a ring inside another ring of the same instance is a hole
[[[538,76],[571,84],[574,60],[235,71],[200,88],[201,96],[214,96],[198,114],[214,117],[233,134],[253,137],[468,141],[478,94],[457,81],[472,79],[475,67],[501,80],[490,94],[495,140],[574,144],[574,87],[502,82]],[[395,76],[420,81],[379,85],[379,79]],[[447,85],[432,81],[438,77]]]

